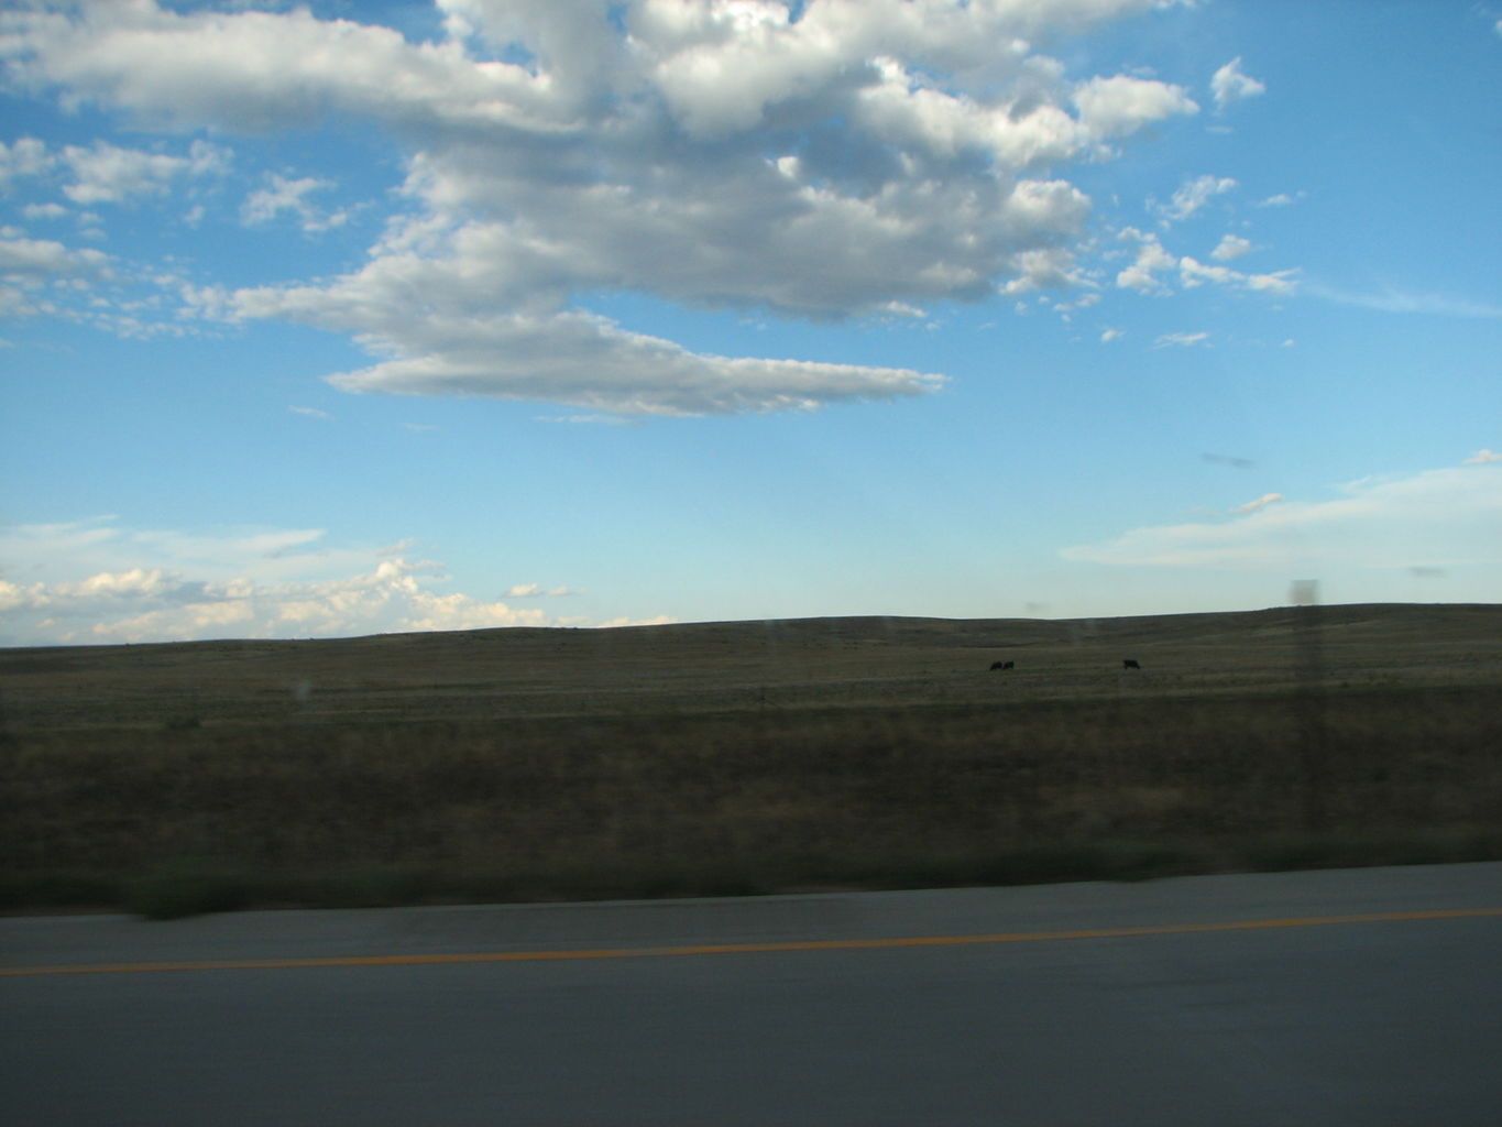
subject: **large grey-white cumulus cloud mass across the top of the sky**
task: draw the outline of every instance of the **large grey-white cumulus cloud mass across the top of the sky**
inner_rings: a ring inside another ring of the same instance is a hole
[[[338,386],[692,415],[940,380],[692,352],[592,316],[587,295],[841,319],[1081,286],[1090,201],[1059,167],[1116,156],[1199,107],[1169,83],[1071,77],[1030,44],[1157,6],[443,0],[443,35],[418,42],[308,8],[135,0],[12,14],[0,53],[14,81],[141,128],[273,132],[339,116],[386,129],[410,212],[366,263],[213,307],[353,332],[377,362]],[[131,198],[207,171],[216,152],[69,150],[68,191]],[[243,215],[332,224],[309,203],[318,189],[273,179]]]

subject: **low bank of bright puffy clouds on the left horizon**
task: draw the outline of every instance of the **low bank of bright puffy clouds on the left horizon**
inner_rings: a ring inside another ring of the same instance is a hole
[[[321,538],[308,529],[144,532],[108,520],[0,529],[8,565],[0,645],[590,625],[436,591],[445,583],[442,565],[412,559],[410,541],[371,551],[321,548]],[[571,594],[518,585],[506,598]]]

